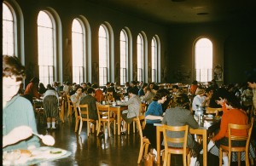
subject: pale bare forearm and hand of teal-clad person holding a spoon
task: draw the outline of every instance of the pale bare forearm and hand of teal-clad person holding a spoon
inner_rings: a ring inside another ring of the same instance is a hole
[[[15,144],[20,140],[25,140],[32,135],[32,129],[28,126],[19,126],[11,130],[8,135],[3,136],[3,146]]]

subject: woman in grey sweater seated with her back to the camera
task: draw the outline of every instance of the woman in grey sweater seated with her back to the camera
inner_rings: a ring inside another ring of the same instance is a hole
[[[189,97],[187,94],[179,94],[177,96],[176,107],[166,110],[162,123],[169,126],[189,125],[189,128],[198,128],[198,123],[195,121],[195,118],[189,111]],[[166,135],[172,138],[181,138],[184,134],[182,132],[167,132]],[[164,143],[162,145],[164,145]],[[183,147],[183,144],[168,143],[168,146]],[[190,133],[188,133],[187,147],[190,149],[190,165],[194,166],[197,156],[201,151],[201,146],[194,140]]]

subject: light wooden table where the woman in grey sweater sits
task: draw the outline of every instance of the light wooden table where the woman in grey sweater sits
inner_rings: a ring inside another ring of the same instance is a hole
[[[205,119],[204,126],[200,126],[198,129],[189,128],[190,134],[202,136],[203,146],[203,165],[207,166],[207,142],[208,135],[212,134],[216,129],[220,127],[221,118]],[[156,151],[157,151],[157,165],[160,165],[160,134],[163,132],[162,123],[154,123],[156,127]]]

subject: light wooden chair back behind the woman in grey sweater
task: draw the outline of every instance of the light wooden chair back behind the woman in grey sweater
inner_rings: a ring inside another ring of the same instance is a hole
[[[167,131],[177,131],[177,132],[184,132],[184,136],[181,138],[172,138],[166,135]],[[165,142],[165,149],[168,149],[168,142],[179,144],[183,143],[183,152],[186,152],[187,148],[187,141],[188,141],[188,131],[189,131],[189,126],[168,126],[166,124],[163,125],[163,135],[164,135],[164,142]]]

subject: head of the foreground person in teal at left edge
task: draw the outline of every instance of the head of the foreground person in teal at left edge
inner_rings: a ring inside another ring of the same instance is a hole
[[[15,56],[3,55],[3,100],[11,100],[19,91],[25,78],[25,67]]]

